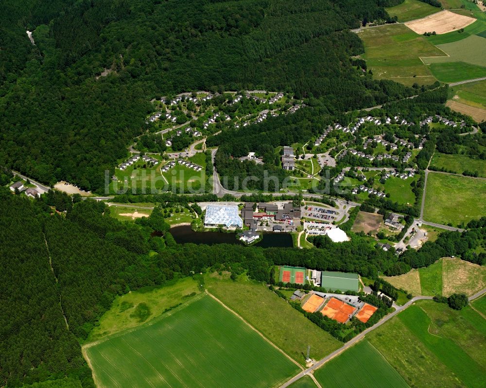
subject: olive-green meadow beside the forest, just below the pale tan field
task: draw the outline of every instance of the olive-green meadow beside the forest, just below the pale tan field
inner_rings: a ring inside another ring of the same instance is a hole
[[[441,56],[444,52],[403,24],[384,25],[361,31],[367,66],[377,78],[406,85],[433,84],[436,80],[420,57]]]

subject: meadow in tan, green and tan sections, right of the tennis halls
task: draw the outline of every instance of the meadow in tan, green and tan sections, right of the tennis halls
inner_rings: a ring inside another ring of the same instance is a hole
[[[486,287],[486,267],[459,258],[445,257],[426,268],[413,269],[399,276],[384,278],[395,287],[413,295],[449,296],[465,293],[468,296]]]

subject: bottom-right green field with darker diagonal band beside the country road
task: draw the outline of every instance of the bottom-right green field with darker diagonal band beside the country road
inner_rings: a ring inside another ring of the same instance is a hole
[[[411,387],[483,387],[486,320],[417,301],[366,338]]]

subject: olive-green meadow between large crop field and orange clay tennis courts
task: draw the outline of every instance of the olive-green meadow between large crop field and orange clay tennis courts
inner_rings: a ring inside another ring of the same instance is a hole
[[[238,282],[218,280],[215,276],[206,276],[209,292],[297,362],[304,364],[302,354],[307,352],[309,344],[312,344],[311,357],[317,360],[341,346],[341,342],[313,324],[267,287],[244,279]]]

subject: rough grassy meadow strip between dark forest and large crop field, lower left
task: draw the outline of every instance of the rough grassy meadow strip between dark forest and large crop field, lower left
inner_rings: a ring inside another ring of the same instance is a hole
[[[160,316],[165,309],[187,301],[187,295],[192,293],[200,293],[197,282],[191,277],[186,277],[164,287],[145,287],[119,296],[89,333],[88,342],[150,321]],[[139,314],[135,313],[140,304],[143,304],[142,307],[146,311],[146,319],[142,322]]]

